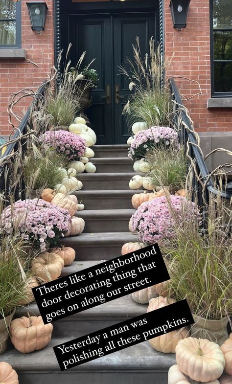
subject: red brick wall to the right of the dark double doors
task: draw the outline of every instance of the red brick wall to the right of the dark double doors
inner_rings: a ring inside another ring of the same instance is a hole
[[[199,82],[202,95],[185,101],[197,131],[232,131],[232,110],[207,109],[211,97],[209,0],[191,0],[186,28],[173,28],[170,0],[164,0],[165,57],[171,60],[167,76],[186,77]],[[197,83],[177,78],[179,89],[186,98],[198,93]]]

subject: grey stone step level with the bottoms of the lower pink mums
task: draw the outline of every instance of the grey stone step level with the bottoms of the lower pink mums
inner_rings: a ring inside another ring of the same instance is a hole
[[[137,241],[138,236],[130,232],[95,232],[66,237],[60,243],[75,249],[76,260],[110,260],[121,255],[123,244]]]

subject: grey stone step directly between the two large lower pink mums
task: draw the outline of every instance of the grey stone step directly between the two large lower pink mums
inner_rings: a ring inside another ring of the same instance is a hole
[[[128,232],[128,225],[135,209],[88,209],[76,212],[75,216],[85,220],[87,232]]]

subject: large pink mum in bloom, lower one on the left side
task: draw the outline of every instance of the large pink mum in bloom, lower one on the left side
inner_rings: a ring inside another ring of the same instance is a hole
[[[32,240],[35,248],[42,251],[47,246],[57,246],[58,238],[64,236],[71,221],[67,210],[44,200],[19,200],[5,208],[1,214],[2,230],[12,233],[12,226],[24,240]]]

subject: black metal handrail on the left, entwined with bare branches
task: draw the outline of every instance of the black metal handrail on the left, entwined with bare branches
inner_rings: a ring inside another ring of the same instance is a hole
[[[30,125],[30,117],[31,112],[37,108],[38,101],[43,98],[46,86],[48,82],[45,81],[35,92],[34,94],[34,100],[32,101],[30,107],[27,109],[26,113],[23,116],[22,121],[20,122],[20,125],[18,129],[16,130],[13,138],[9,140],[9,143],[7,142],[4,144],[6,146],[6,150],[4,154],[1,156],[1,159],[7,158],[19,149],[19,145],[22,147],[22,153],[25,153],[27,151],[27,139],[17,140],[21,136],[24,136],[27,133],[27,127]],[[12,141],[12,142],[10,142]],[[0,192],[4,192],[6,203],[8,201],[9,196],[12,194],[11,190],[11,183],[10,183],[10,168],[14,169],[14,158],[9,158],[9,161],[3,163],[0,165]],[[21,197],[24,197],[24,184],[23,180],[21,180],[21,185],[15,185],[14,186],[14,200],[19,200],[19,192],[21,190]]]

